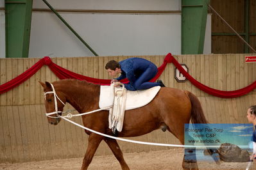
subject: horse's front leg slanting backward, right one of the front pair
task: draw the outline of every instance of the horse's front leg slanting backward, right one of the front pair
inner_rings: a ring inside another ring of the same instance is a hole
[[[110,150],[112,150],[112,152],[114,153],[115,158],[117,158],[117,160],[119,161],[122,169],[129,169],[128,165],[124,160],[123,153],[120,150],[117,141],[115,139],[110,138],[105,138],[104,141],[108,144]]]

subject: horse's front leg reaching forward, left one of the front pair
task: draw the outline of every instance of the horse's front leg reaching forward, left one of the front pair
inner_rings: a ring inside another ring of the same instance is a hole
[[[81,166],[81,170],[88,168],[90,162],[92,162],[94,153],[96,152],[96,150],[99,146],[99,143],[101,143],[102,139],[103,139],[103,137],[101,135],[97,135],[94,133],[89,135],[87,151],[85,153],[85,157],[83,158],[83,164]]]

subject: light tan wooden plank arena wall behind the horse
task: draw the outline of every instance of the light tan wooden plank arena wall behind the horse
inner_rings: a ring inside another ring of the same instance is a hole
[[[110,59],[128,57],[52,58],[53,62],[68,70],[89,77],[109,79],[104,70]],[[164,56],[143,57],[157,66]],[[199,82],[215,89],[230,91],[244,88],[256,79],[256,63],[244,63],[244,54],[212,54],[175,56],[185,63],[189,73]],[[0,83],[10,81],[26,71],[39,59],[0,59]],[[175,67],[168,64],[160,79],[166,86],[187,89],[200,99],[210,123],[246,123],[246,109],[255,104],[256,91],[239,98],[223,99],[212,97],[191,82],[176,82]],[[57,77],[43,66],[33,77],[17,88],[0,95],[0,162],[24,162],[53,158],[83,157],[87,148],[87,135],[81,128],[62,120],[57,126],[49,125],[45,116],[44,95],[38,81],[53,82]],[[65,108],[69,109],[67,105]],[[81,124],[81,118],[74,118]],[[169,132],[156,130],[141,137],[139,141],[178,144]],[[124,152],[163,150],[167,147],[146,146],[119,142]],[[101,143],[96,155],[112,154],[107,144]]]

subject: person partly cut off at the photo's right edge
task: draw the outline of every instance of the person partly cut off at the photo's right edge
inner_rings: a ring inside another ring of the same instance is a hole
[[[256,105],[252,105],[247,110],[247,120],[249,123],[253,124],[253,157],[251,160],[256,160]]]

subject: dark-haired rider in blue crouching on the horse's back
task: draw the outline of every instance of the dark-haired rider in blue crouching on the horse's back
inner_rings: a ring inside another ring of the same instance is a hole
[[[128,58],[119,63],[111,60],[108,61],[105,68],[113,78],[121,73],[117,79],[112,79],[111,83],[121,81],[127,77],[129,83],[124,84],[124,87],[131,91],[149,89],[155,86],[165,87],[160,80],[149,82],[157,74],[157,66],[143,58]],[[115,84],[114,86],[117,87],[119,85]]]

